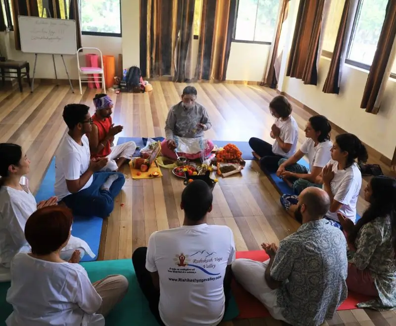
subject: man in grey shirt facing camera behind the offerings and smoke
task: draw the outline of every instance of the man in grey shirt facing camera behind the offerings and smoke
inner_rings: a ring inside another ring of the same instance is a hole
[[[209,156],[214,145],[203,135],[211,127],[206,109],[197,103],[197,89],[194,86],[185,87],[182,101],[168,112],[166,139],[161,143],[162,155],[174,160],[177,158],[175,151],[190,160]]]

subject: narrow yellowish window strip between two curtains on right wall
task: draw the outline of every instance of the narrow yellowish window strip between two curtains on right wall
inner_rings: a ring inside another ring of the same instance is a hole
[[[330,2],[329,14],[323,30],[322,55],[331,58],[336,44],[338,29],[343,15],[345,0],[332,0]]]

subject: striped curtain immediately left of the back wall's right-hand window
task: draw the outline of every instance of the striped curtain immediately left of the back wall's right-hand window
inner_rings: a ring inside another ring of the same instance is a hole
[[[198,80],[226,79],[237,0],[202,0],[198,60]]]

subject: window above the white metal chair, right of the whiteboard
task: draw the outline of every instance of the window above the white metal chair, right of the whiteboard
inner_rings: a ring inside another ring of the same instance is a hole
[[[121,36],[120,0],[81,0],[83,35]]]

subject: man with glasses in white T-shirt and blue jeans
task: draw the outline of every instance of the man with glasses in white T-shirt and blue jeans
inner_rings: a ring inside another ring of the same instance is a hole
[[[68,104],[63,109],[69,131],[56,151],[55,195],[76,215],[104,218],[112,212],[125,176],[119,172],[95,173],[108,160],[90,160],[86,133],[91,132],[93,121],[88,111],[84,104]]]

